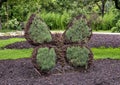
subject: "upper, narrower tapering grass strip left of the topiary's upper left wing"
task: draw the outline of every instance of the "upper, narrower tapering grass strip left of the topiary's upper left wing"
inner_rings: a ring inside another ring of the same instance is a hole
[[[8,44],[12,44],[15,42],[20,42],[20,41],[25,41],[24,38],[10,38],[10,39],[6,39],[6,40],[0,40],[0,48],[4,47]]]

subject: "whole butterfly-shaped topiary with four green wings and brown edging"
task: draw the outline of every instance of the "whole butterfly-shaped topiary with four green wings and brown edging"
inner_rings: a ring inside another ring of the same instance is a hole
[[[69,65],[73,68],[90,66],[93,60],[86,43],[92,30],[83,15],[73,18],[63,34],[52,34],[39,15],[32,14],[25,28],[25,38],[35,45],[32,62],[40,73],[50,73],[54,68]]]

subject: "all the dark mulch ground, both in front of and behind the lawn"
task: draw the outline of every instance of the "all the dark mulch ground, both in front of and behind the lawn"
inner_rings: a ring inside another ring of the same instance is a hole
[[[21,36],[23,37],[23,36]],[[11,37],[0,37],[8,39]],[[120,47],[120,35],[94,34],[90,47]],[[33,48],[26,41],[6,48]],[[88,70],[39,75],[31,59],[0,60],[0,85],[120,85],[120,60],[94,60]]]

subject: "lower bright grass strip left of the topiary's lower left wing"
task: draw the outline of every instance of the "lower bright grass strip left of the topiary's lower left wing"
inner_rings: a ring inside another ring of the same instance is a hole
[[[0,50],[0,60],[29,58],[33,49],[4,49]]]

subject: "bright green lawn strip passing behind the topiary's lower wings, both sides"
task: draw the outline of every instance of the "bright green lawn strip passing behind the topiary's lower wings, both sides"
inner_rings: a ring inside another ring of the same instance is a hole
[[[28,58],[33,49],[4,49],[0,50],[0,60]],[[92,48],[94,59],[120,59],[120,48]]]

